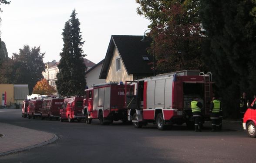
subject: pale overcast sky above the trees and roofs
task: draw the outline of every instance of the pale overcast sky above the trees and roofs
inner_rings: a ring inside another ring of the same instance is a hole
[[[24,45],[40,46],[44,62],[60,60],[61,33],[74,9],[81,23],[85,58],[94,63],[104,59],[111,35],[143,35],[150,24],[137,14],[135,0],[11,0],[0,7],[1,38],[8,57]]]

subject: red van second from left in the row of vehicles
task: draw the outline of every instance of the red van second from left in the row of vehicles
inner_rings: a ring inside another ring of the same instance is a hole
[[[41,108],[43,106],[43,101],[42,100],[31,100],[28,102],[28,106],[27,106],[27,116],[30,119],[31,116],[33,117],[33,119],[35,119],[35,117],[40,117],[41,115]]]

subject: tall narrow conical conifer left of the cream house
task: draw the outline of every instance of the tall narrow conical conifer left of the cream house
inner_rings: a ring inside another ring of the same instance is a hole
[[[82,50],[84,41],[82,41],[80,22],[76,18],[76,11],[73,10],[71,19],[64,26],[63,49],[60,53],[61,60],[58,64],[57,73],[57,91],[62,96],[72,96],[82,94],[86,86],[85,70]]]

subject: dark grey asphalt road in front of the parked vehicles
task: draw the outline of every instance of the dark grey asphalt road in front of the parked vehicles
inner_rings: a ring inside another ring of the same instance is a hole
[[[255,163],[256,139],[239,123],[225,123],[222,132],[202,132],[173,126],[101,126],[84,122],[27,119],[21,110],[0,110],[0,122],[55,133],[59,140],[46,146],[0,157],[0,163]]]

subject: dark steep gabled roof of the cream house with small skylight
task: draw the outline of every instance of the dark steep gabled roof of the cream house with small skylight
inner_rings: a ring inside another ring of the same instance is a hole
[[[104,63],[100,73],[100,79],[106,79],[108,67],[110,66],[113,51],[116,47],[124,63],[128,75],[152,75],[151,69],[153,57],[147,53],[150,47],[150,41],[141,42],[143,36],[130,35],[112,35],[108,50],[104,59]],[[149,60],[143,60],[143,56],[147,56]]]

